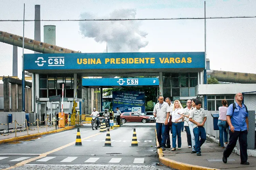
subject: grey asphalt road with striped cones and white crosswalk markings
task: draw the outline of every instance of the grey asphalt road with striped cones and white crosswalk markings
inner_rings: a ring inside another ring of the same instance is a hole
[[[138,147],[131,147],[134,128]],[[104,147],[106,133],[93,131],[90,124],[80,128],[83,146],[74,145],[76,134],[73,129],[0,144],[0,169],[170,169],[156,165],[155,123],[127,122],[111,130],[112,147]]]

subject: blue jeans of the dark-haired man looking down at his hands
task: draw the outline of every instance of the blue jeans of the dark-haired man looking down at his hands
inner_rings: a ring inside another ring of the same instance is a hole
[[[193,129],[193,132],[194,132],[195,140],[196,140],[196,146],[195,146],[196,152],[201,153],[201,146],[203,145],[204,141],[206,140],[205,129],[203,126],[197,126],[196,128]]]

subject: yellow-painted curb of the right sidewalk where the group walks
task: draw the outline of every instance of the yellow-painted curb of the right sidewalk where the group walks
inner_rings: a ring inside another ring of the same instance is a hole
[[[156,130],[155,130],[156,132]],[[156,133],[156,146],[158,146],[158,140],[157,140],[157,133]],[[159,162],[167,167],[173,168],[173,169],[178,169],[178,170],[219,170],[215,168],[208,168],[208,167],[202,167],[202,166],[197,166],[197,165],[190,165],[190,164],[185,164],[182,162],[177,162],[175,160],[171,160],[168,158],[165,158],[162,149],[157,149],[157,154],[159,156]]]

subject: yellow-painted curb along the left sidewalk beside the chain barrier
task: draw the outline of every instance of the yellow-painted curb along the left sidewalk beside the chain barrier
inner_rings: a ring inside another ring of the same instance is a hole
[[[3,140],[0,140],[0,143],[8,143],[8,142],[13,142],[13,141],[19,141],[19,140],[23,140],[23,139],[28,139],[28,138],[31,138],[31,137],[47,135],[47,134],[51,134],[51,133],[57,133],[57,132],[66,131],[66,130],[70,130],[70,129],[73,129],[73,128],[77,128],[79,126],[81,126],[81,125],[73,125],[73,126],[68,126],[68,127],[62,128],[62,129],[58,129],[58,130],[53,130],[53,131],[48,131],[48,132],[41,132],[41,133],[35,133],[35,134],[19,136],[19,137],[13,137],[13,138],[9,138],[9,139],[3,139]]]

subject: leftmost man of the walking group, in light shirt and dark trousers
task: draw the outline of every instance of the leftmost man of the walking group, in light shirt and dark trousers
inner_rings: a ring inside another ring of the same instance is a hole
[[[157,100],[158,103],[156,103],[153,111],[154,117],[156,117],[156,133],[159,143],[159,146],[157,146],[156,148],[162,148],[162,151],[165,151],[166,128],[171,109],[169,107],[169,104],[163,101],[162,95],[159,95],[157,97]]]

